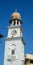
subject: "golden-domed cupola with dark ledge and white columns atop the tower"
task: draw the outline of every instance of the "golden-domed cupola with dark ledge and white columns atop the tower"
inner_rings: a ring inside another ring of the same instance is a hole
[[[21,15],[19,12],[15,11],[12,13],[11,17],[10,17],[10,24],[13,26],[16,25],[21,25],[22,21],[21,21]]]

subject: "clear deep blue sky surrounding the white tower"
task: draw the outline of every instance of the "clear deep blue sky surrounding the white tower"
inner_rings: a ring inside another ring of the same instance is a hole
[[[10,15],[17,9],[23,20],[25,53],[33,54],[33,0],[0,0],[0,33],[7,36]],[[0,39],[0,65],[4,61],[4,39]]]

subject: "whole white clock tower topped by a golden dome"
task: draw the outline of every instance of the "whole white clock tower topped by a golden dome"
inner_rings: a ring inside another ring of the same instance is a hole
[[[24,65],[24,45],[22,20],[18,12],[14,12],[10,18],[8,36],[5,39],[4,65]]]

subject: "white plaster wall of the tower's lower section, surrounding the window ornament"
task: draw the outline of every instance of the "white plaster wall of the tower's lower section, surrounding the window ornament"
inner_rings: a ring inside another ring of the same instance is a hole
[[[7,61],[8,58],[8,47],[9,45],[15,44],[15,55],[16,60],[14,62]],[[23,53],[23,54],[22,54]],[[9,40],[5,42],[5,55],[4,55],[4,65],[23,65],[22,60],[24,61],[24,44],[21,40]]]

